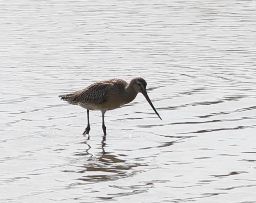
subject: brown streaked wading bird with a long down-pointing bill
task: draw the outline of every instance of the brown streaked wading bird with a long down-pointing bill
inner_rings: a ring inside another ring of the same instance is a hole
[[[162,120],[148,97],[146,86],[147,82],[141,77],[133,78],[129,83],[123,79],[114,78],[95,82],[85,89],[74,91],[69,94],[59,95],[59,97],[61,100],[67,101],[69,104],[79,105],[82,108],[87,109],[87,127],[85,128],[83,135],[88,135],[88,138],[91,129],[89,111],[100,110],[102,115],[103,140],[105,140],[106,126],[104,115],[106,111],[128,104],[135,99],[139,92],[144,95],[154,112]]]

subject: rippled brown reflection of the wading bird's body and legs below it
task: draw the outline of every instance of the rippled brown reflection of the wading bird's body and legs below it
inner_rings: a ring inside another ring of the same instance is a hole
[[[83,141],[80,144],[84,147],[83,151],[75,152],[73,155],[86,157],[87,159],[78,168],[76,166],[74,170],[64,171],[81,173],[82,176],[77,180],[88,182],[117,180],[141,172],[140,169],[130,169],[147,165],[142,163],[128,163],[127,160],[121,158],[125,157],[125,155],[115,155],[114,152],[106,152],[105,148],[107,145],[104,140],[100,144],[101,152],[97,153],[90,152],[92,147],[89,141]]]

